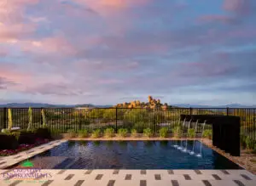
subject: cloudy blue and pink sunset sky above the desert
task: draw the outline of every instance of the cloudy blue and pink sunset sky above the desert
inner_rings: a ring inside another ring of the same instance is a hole
[[[0,0],[0,104],[256,104],[255,20],[255,0]]]

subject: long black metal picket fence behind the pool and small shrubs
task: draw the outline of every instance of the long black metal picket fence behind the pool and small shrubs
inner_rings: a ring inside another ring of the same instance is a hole
[[[43,108],[32,109],[32,127],[39,127],[43,123],[41,115]],[[13,127],[25,129],[28,127],[28,108],[11,108]],[[240,116],[241,132],[256,139],[256,109],[241,108],[168,108],[167,110],[127,109],[127,108],[44,108],[47,125],[51,130],[67,132],[69,129],[92,131],[100,128],[113,127],[136,128],[143,132],[150,127],[158,132],[161,127],[167,127],[170,132],[180,125],[180,115],[225,115]],[[195,126],[195,124],[194,124]],[[0,108],[0,128],[8,127],[8,108]],[[198,124],[197,131],[201,132],[202,124]]]

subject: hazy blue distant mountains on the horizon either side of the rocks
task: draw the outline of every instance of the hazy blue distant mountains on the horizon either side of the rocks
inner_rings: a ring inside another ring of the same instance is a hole
[[[42,104],[42,103],[10,103],[10,104],[0,104],[0,108],[9,107],[9,108],[75,108],[75,107],[97,107],[97,108],[108,108],[113,105],[94,105],[94,104]],[[181,108],[256,108],[256,104],[253,105],[242,105],[242,104],[225,104],[219,106],[211,106],[211,105],[197,105],[197,104],[172,104],[172,106],[181,107]]]

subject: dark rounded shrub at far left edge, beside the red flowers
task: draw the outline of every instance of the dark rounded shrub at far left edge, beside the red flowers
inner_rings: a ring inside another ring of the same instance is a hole
[[[19,146],[15,135],[0,133],[0,149],[17,149]]]

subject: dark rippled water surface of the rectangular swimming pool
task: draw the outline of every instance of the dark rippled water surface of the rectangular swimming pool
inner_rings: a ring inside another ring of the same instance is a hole
[[[193,144],[188,141],[187,149]],[[31,161],[54,169],[241,169],[199,141],[195,155],[173,145],[181,146],[179,141],[68,141]]]

